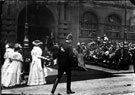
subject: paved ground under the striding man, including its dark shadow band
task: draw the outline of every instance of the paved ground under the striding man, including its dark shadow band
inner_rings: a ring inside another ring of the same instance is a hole
[[[73,71],[72,90],[73,95],[135,95],[135,74],[130,66],[129,70],[113,70],[104,67],[87,65],[88,71]],[[6,88],[2,94],[34,94],[51,95],[50,91],[57,69],[49,72],[46,78],[47,84],[40,86],[19,86]],[[56,94],[66,95],[66,76],[64,75],[58,84]]]

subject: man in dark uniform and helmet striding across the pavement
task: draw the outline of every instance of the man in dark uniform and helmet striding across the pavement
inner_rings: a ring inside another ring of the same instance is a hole
[[[70,57],[73,54],[73,48],[71,46],[71,43],[72,43],[72,34],[68,34],[68,36],[66,37],[66,41],[59,46],[59,52],[57,56],[58,75],[55,79],[51,91],[52,94],[55,92],[55,89],[64,72],[66,72],[67,75],[67,94],[75,93],[71,90],[71,63],[72,62],[70,60]]]

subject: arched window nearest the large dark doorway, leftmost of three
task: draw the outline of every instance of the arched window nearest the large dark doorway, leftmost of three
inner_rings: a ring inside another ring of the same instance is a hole
[[[97,17],[91,12],[85,12],[80,21],[79,37],[96,37],[97,32]]]

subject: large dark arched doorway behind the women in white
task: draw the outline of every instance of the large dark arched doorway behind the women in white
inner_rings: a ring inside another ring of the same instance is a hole
[[[56,23],[53,13],[45,4],[32,3],[23,8],[18,17],[18,32],[17,42],[23,45],[24,34],[25,34],[25,22],[28,22],[28,39],[29,48],[32,49],[32,41],[41,40],[45,41],[46,36],[51,38],[51,33],[55,34]]]

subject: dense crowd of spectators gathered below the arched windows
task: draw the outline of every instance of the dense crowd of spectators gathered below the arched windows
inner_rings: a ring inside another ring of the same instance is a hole
[[[106,35],[97,37],[96,40],[78,42],[77,50],[84,56],[85,63],[100,64],[115,67],[117,69],[129,69],[133,64],[135,43],[127,41],[113,41]]]

